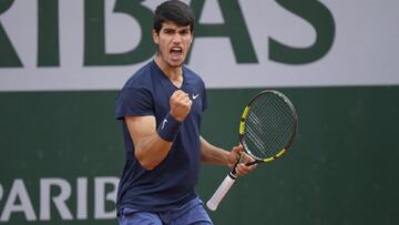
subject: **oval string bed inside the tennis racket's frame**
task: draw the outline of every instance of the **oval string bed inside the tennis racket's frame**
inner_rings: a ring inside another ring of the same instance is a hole
[[[255,101],[245,122],[244,143],[252,155],[273,157],[293,139],[293,111],[286,100],[276,94],[266,94]]]

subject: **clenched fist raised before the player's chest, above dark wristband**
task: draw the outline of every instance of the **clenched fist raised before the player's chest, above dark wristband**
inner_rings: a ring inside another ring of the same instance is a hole
[[[182,90],[173,92],[170,99],[171,115],[180,122],[188,115],[193,101],[188,94]]]

